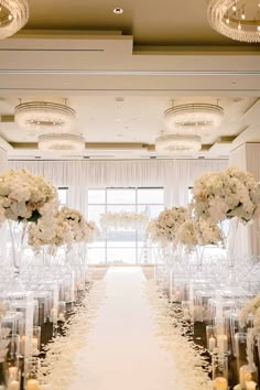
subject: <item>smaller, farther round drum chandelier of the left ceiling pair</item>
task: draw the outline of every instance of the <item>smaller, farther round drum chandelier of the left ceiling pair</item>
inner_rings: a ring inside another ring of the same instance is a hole
[[[73,133],[42,134],[37,139],[37,148],[42,151],[83,151],[85,139]]]

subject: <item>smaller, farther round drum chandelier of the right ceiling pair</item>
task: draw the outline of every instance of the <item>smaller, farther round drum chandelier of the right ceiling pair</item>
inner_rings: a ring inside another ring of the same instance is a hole
[[[155,139],[158,152],[191,153],[202,149],[202,139],[198,136],[165,134]]]

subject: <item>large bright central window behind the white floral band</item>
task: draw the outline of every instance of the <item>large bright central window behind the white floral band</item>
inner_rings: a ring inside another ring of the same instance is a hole
[[[104,188],[88,191],[88,219],[100,228],[101,214],[111,212],[145,213],[158,217],[164,209],[164,189],[156,187]],[[145,231],[120,229],[104,231],[89,246],[89,263],[137,264],[147,261]],[[145,259],[144,259],[145,258]]]

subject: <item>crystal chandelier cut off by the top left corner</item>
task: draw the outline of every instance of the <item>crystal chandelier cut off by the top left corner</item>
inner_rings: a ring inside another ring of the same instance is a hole
[[[15,34],[29,19],[29,0],[0,0],[0,40]]]

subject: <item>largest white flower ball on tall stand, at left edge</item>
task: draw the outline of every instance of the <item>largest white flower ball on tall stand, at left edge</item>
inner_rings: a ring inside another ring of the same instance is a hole
[[[6,219],[36,223],[56,209],[56,191],[44,177],[26,170],[0,174],[0,224]]]

